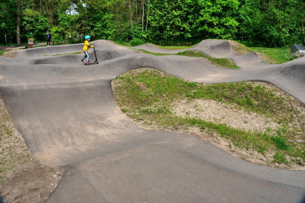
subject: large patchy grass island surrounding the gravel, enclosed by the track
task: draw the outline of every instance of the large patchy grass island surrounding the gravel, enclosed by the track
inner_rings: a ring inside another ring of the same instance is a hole
[[[157,123],[159,126],[196,126],[201,131],[215,132],[226,138],[230,144],[248,150],[252,148],[263,155],[266,151],[276,151],[278,155],[291,157],[297,164],[305,162],[305,146],[291,141],[294,133],[286,123],[290,122],[289,98],[254,82],[198,84],[172,77],[152,69],[133,70],[114,80],[114,95],[117,104],[131,118]],[[117,84],[117,85],[116,85]],[[214,99],[235,105],[249,111],[281,117],[282,126],[275,131],[246,132],[225,124],[206,122],[201,119],[181,118],[171,114],[174,101],[188,97]],[[279,108],[278,108],[279,107]],[[287,114],[287,116],[284,116]],[[274,155],[274,162],[281,161]]]

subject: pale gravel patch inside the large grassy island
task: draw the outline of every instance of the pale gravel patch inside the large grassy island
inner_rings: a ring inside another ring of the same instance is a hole
[[[268,126],[275,129],[278,123],[264,115],[231,109],[228,105],[214,100],[195,99],[182,100],[174,106],[172,112],[177,116],[198,118],[213,123],[225,123],[236,129],[246,131],[265,131]]]

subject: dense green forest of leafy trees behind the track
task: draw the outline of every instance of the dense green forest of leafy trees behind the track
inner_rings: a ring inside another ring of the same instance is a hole
[[[0,46],[80,36],[120,44],[193,45],[233,39],[287,47],[304,39],[305,0],[1,0]],[[19,26],[20,25],[20,26]],[[20,37],[19,37],[20,36]],[[19,38],[18,38],[19,37]]]

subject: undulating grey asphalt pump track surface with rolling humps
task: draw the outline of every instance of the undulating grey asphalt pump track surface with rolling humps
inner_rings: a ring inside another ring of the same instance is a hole
[[[203,83],[265,81],[305,103],[305,57],[280,65],[228,41],[190,48],[231,58],[224,69],[203,58],[154,56],[97,40],[98,65],[81,64],[83,44],[33,48],[0,57],[0,96],[31,153],[65,170],[46,202],[300,202],[305,171],[258,166],[190,135],[139,128],[116,108],[111,81],[150,67]],[[150,52],[175,53],[152,45]],[[94,61],[90,50],[91,61]],[[49,56],[42,56],[49,55]]]

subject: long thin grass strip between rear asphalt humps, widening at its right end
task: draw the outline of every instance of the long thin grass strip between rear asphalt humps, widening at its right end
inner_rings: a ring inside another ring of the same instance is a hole
[[[143,49],[137,49],[137,50],[139,50],[141,52],[144,52],[146,54],[152,54],[152,55],[156,55],[156,56],[162,56],[162,55],[181,55],[181,56],[189,56],[189,57],[203,57],[203,58],[209,59],[211,61],[211,63],[213,65],[215,65],[215,66],[239,69],[239,67],[236,66],[236,64],[234,62],[232,62],[228,58],[217,59],[217,58],[213,58],[211,56],[205,55],[202,52],[193,51],[193,50],[178,52],[176,54],[153,53],[153,52],[149,52],[149,51],[146,51],[146,50],[143,50]]]

